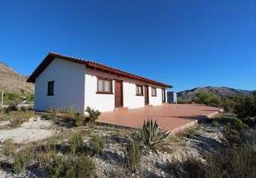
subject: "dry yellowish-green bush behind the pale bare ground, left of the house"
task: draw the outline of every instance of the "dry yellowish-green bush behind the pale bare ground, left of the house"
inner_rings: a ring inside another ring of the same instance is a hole
[[[18,127],[23,122],[27,122],[32,116],[32,112],[12,111],[10,112],[10,127]]]

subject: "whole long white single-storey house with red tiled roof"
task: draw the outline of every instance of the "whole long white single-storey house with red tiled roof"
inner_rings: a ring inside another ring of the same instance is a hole
[[[85,113],[141,108],[167,102],[166,85],[88,60],[49,53],[27,82],[35,83],[35,110],[69,108]]]

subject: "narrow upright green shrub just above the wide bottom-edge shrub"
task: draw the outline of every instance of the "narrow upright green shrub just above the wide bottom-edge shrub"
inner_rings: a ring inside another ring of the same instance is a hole
[[[70,136],[70,151],[72,154],[77,154],[82,151],[84,142],[81,133],[72,133]]]

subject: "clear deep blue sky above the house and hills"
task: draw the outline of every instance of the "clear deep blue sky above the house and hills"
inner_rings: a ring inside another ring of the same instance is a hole
[[[174,85],[256,89],[255,0],[0,2],[0,61],[25,75],[49,51]]]

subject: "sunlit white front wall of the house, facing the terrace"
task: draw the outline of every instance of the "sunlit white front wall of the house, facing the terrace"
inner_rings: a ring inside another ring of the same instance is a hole
[[[145,106],[145,96],[136,96],[136,85],[148,85],[149,105],[162,105],[162,88],[157,85],[149,85],[139,80],[115,76],[110,73],[86,69],[85,70],[85,108],[90,106],[101,112],[114,111],[114,94],[98,94],[97,76],[108,79],[119,79],[123,83],[123,107],[142,108]],[[115,91],[114,81],[113,92]],[[151,96],[151,87],[157,88],[157,96]],[[167,95],[166,95],[167,96]]]

